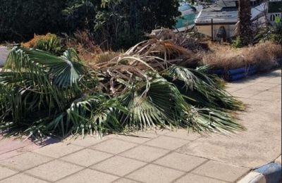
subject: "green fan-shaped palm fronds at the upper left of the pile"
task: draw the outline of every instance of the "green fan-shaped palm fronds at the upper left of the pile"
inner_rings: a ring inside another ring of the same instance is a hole
[[[58,87],[77,84],[85,70],[78,55],[68,49],[63,56],[34,49],[14,48],[7,59],[4,70],[13,72],[30,72],[47,75]],[[19,73],[20,74],[20,73]],[[49,80],[49,78],[47,78]]]

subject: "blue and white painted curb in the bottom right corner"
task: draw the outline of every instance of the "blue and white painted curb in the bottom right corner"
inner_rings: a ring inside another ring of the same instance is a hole
[[[238,183],[279,183],[282,180],[281,156],[275,163],[263,165],[247,174]]]

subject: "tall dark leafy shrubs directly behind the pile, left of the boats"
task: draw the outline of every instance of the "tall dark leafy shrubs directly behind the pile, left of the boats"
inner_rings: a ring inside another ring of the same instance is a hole
[[[178,1],[167,0],[69,0],[64,10],[68,25],[94,30],[94,39],[103,49],[129,48],[144,39],[145,32],[156,27],[172,27]],[[85,13],[91,12],[91,13]],[[79,24],[79,25],[78,25]]]

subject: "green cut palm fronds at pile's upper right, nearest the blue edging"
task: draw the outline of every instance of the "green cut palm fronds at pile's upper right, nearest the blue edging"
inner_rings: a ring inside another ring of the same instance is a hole
[[[212,80],[212,76],[201,70],[173,65],[162,75],[173,82],[193,106],[229,110],[244,109],[243,103],[228,94],[219,80]]]

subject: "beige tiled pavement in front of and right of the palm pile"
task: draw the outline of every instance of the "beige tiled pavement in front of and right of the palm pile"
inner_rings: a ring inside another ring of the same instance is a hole
[[[245,132],[68,139],[1,160],[0,182],[236,182],[281,154],[281,70],[228,87],[248,104]]]

